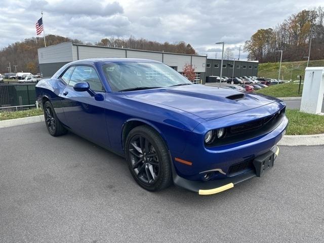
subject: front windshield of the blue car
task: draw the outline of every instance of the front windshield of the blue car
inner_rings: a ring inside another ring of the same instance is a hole
[[[176,70],[163,63],[108,63],[103,71],[113,91],[153,89],[192,83]]]

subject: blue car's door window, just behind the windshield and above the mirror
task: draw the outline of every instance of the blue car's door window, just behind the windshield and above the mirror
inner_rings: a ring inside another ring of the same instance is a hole
[[[69,85],[74,86],[78,82],[87,82],[93,91],[105,91],[93,67],[76,66],[71,75]]]

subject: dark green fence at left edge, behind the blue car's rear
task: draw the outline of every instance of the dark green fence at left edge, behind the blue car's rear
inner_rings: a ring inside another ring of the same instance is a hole
[[[0,107],[35,105],[35,84],[0,84]]]

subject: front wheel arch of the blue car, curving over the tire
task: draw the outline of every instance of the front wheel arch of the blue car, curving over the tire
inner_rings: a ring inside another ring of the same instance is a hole
[[[169,150],[169,146],[167,143],[167,139],[166,137],[163,135],[163,133],[156,127],[154,126],[152,123],[150,123],[147,120],[144,119],[138,119],[138,118],[131,118],[128,119],[127,121],[125,121],[125,123],[123,124],[123,127],[121,127],[121,144],[123,146],[123,150],[125,150],[125,142],[126,142],[126,138],[127,135],[129,134],[129,132],[139,126],[143,126],[146,125],[150,128],[152,128],[154,131],[156,131],[160,137],[163,139],[163,141],[165,142],[168,150]]]

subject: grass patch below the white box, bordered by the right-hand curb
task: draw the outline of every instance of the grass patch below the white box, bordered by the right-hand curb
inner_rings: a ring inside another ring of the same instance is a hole
[[[287,135],[307,135],[324,133],[324,115],[314,115],[299,110],[286,109],[289,119]]]

